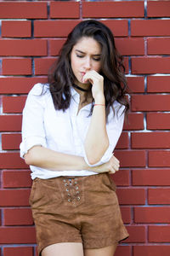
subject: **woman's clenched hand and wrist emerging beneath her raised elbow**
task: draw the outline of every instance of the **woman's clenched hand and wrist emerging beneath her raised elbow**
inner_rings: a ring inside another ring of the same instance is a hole
[[[108,162],[106,162],[101,166],[92,167],[91,171],[97,172],[97,173],[103,173],[103,172],[116,173],[119,171],[119,167],[120,167],[120,161],[116,159],[116,157],[113,155],[111,156],[111,159]]]

